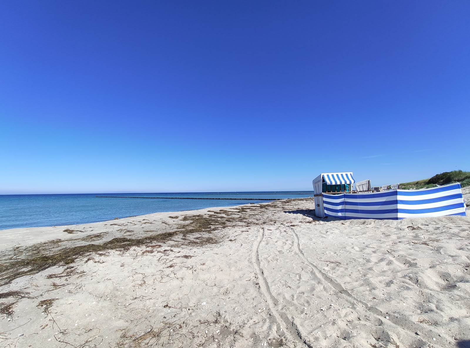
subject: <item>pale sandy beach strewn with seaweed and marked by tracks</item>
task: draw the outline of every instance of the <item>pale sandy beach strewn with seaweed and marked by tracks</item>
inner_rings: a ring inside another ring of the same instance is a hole
[[[313,209],[0,231],[0,346],[468,347],[469,217]]]

